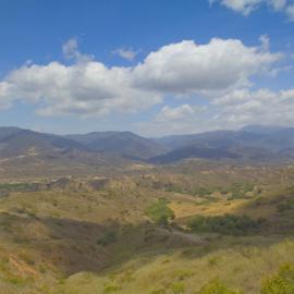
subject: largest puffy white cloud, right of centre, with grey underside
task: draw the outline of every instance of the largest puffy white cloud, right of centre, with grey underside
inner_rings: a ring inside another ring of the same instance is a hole
[[[249,77],[280,59],[237,39],[192,40],[163,46],[133,69],[135,86],[161,93],[188,94],[223,90],[249,84]]]

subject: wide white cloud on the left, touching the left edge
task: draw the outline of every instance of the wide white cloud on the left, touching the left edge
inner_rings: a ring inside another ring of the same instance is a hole
[[[0,100],[41,103],[41,115],[108,115],[132,112],[161,101],[161,96],[131,86],[127,68],[107,68],[88,61],[65,66],[24,65],[1,82]]]

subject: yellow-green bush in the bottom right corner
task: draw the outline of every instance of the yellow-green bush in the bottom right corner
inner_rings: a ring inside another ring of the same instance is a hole
[[[293,294],[294,267],[284,265],[277,274],[264,280],[260,294]]]

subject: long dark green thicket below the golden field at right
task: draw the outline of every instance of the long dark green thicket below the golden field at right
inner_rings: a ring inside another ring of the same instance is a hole
[[[255,221],[247,216],[198,216],[189,220],[187,225],[192,231],[195,232],[212,232],[228,235],[241,235],[257,232],[260,222]]]

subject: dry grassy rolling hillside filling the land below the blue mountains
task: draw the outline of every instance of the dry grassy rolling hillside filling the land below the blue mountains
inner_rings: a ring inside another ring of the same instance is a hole
[[[3,181],[1,293],[259,294],[294,265],[293,175],[189,162]]]

